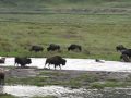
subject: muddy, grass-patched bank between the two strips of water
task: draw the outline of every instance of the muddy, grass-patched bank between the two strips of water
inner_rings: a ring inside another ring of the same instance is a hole
[[[71,88],[105,88],[131,86],[131,73],[105,71],[8,69],[7,85],[59,85]]]

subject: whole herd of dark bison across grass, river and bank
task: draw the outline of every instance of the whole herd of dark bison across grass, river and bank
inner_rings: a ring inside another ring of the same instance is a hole
[[[29,51],[43,51],[44,48],[40,46],[32,46],[32,48],[29,49]],[[49,47],[47,48],[47,51],[55,51],[55,50],[60,50],[60,46],[59,45],[55,45],[55,44],[50,44]],[[79,50],[82,51],[82,47],[79,45],[71,45],[68,47],[68,51],[70,50]],[[131,62],[131,49],[128,49],[126,47],[123,47],[122,45],[119,45],[116,47],[116,50],[120,52],[120,59],[122,59],[124,62]],[[0,59],[0,63],[4,63],[5,62],[5,58],[1,58]],[[99,60],[96,59],[96,62],[99,62]],[[21,65],[21,68],[25,68],[26,64],[31,64],[32,63],[32,59],[29,58],[20,58],[20,57],[15,57],[14,58],[14,65]],[[57,66],[60,68],[61,70],[61,65],[66,65],[67,60],[63,59],[60,56],[53,56],[50,58],[46,59],[45,62],[45,66],[48,64],[48,69],[50,69],[50,65],[55,66],[55,70]],[[4,72],[0,71],[0,84],[4,84]]]

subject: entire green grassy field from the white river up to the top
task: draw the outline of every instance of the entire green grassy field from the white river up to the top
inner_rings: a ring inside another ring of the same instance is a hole
[[[60,54],[119,60],[115,47],[131,48],[130,0],[3,1],[0,1],[0,56]],[[61,52],[47,52],[49,44],[60,45]],[[71,44],[81,45],[82,52],[68,52]],[[29,52],[32,45],[40,45],[45,50]]]

